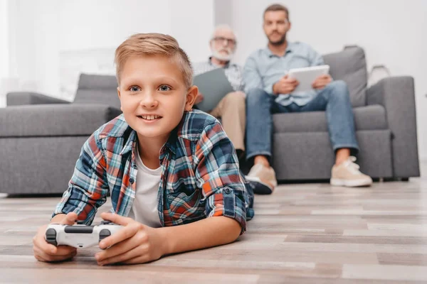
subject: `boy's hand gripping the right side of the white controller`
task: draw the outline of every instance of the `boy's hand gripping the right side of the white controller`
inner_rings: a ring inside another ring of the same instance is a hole
[[[95,254],[100,266],[112,263],[146,263],[165,254],[166,241],[159,234],[159,229],[118,214],[102,213],[101,217],[124,227],[100,242],[100,249],[105,249]]]

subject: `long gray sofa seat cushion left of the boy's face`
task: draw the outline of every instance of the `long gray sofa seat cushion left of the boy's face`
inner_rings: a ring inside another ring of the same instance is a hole
[[[105,104],[39,104],[0,111],[1,137],[89,136],[120,109]]]

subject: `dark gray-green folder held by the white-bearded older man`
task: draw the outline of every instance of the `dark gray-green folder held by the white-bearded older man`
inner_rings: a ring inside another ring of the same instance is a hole
[[[199,87],[199,92],[204,96],[203,101],[196,107],[205,112],[214,109],[226,94],[234,92],[223,68],[194,76],[193,84]]]

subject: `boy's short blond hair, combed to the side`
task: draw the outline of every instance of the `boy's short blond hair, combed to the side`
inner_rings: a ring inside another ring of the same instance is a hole
[[[120,85],[120,72],[127,59],[133,56],[164,55],[181,67],[184,84],[188,89],[193,84],[193,70],[188,55],[179,47],[175,38],[162,33],[136,33],[127,38],[115,50],[117,82]]]

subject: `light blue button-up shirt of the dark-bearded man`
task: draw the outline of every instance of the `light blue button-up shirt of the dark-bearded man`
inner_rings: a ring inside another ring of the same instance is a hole
[[[243,67],[243,83],[245,91],[250,89],[264,89],[265,92],[273,94],[273,84],[285,76],[290,69],[324,65],[322,55],[305,43],[288,43],[285,55],[274,55],[269,48],[262,48],[252,53]],[[278,94],[276,102],[288,106],[295,102],[303,106],[310,102],[317,91]]]

